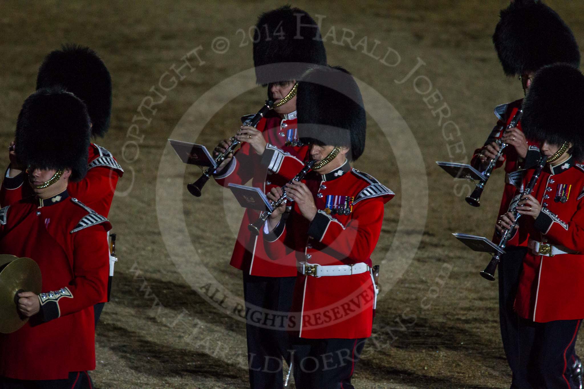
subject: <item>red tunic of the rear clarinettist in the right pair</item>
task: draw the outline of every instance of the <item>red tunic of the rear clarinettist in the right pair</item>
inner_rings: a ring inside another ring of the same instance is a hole
[[[521,104],[523,103],[523,99],[512,101],[508,104],[501,104],[500,106],[495,107],[495,115],[499,119],[495,127],[493,127],[493,131],[489,138],[485,142],[485,146],[495,142],[497,139],[502,138],[503,132],[505,132],[505,128],[507,125],[513,120],[517,111],[521,109]],[[521,121],[517,124],[517,128],[521,128]],[[522,130],[523,131],[523,130]],[[529,144],[529,150],[527,151],[527,166],[531,166],[531,164],[536,163],[538,155],[540,155],[539,148],[535,142],[527,140]],[[472,156],[471,164],[473,166],[477,166],[478,164],[478,156],[480,155],[482,149],[476,149],[474,155]],[[503,188],[503,197],[501,198],[501,203],[499,206],[499,213],[498,215],[502,215],[503,213],[507,212],[509,209],[509,203],[513,198],[513,194],[515,194],[515,186],[509,183],[508,174],[520,169],[522,167],[523,159],[517,154],[517,150],[513,146],[508,146],[503,150],[503,158],[505,160],[498,161],[495,164],[495,169],[498,167],[503,166],[505,164],[505,187]]]

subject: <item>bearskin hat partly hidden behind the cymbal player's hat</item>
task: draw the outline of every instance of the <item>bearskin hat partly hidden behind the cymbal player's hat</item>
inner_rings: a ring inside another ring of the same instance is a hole
[[[87,105],[92,135],[103,137],[112,114],[112,78],[106,65],[89,47],[64,45],[44,58],[37,89],[61,86]]]

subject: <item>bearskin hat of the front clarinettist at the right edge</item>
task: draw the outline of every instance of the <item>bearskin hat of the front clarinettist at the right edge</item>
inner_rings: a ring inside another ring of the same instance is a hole
[[[570,64],[544,66],[523,100],[523,132],[533,141],[574,144],[572,155],[584,157],[584,76]]]

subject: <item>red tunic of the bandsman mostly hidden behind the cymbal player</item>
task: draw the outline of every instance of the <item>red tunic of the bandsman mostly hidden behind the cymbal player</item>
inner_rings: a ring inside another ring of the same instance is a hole
[[[92,143],[89,145],[88,171],[85,178],[77,183],[70,182],[67,190],[71,196],[107,218],[117,180],[123,174],[124,170],[112,154]],[[33,191],[27,181],[25,173],[16,177],[4,177],[0,188],[0,204],[2,206],[15,204],[20,199],[32,195]]]

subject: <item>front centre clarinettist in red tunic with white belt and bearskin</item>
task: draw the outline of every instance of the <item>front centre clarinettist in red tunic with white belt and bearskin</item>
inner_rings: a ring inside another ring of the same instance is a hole
[[[297,261],[293,369],[300,388],[353,388],[350,383],[371,336],[376,285],[370,256],[394,193],[352,169],[365,145],[366,115],[357,84],[341,68],[311,71],[298,85],[301,141],[317,161],[304,182],[286,185],[293,211],[274,212],[264,230],[267,252]],[[325,101],[326,104],[322,102]],[[326,163],[328,161],[328,163]],[[287,160],[283,169],[298,166]],[[322,166],[324,164],[324,166]],[[280,197],[274,188],[271,199]]]

